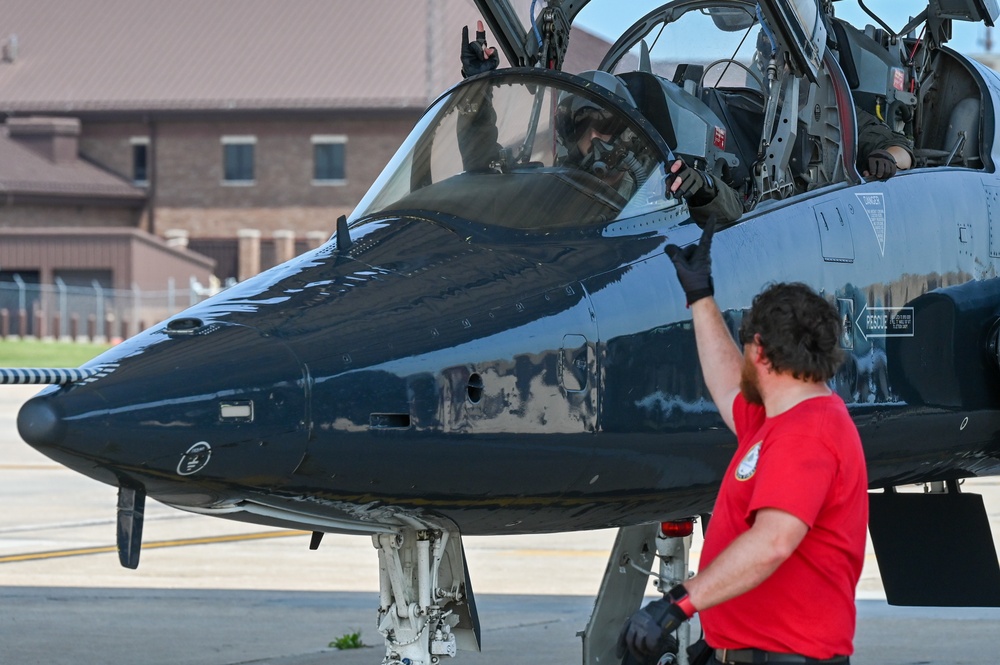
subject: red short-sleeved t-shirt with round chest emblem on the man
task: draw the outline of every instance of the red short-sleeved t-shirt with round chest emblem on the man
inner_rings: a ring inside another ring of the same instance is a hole
[[[854,589],[865,558],[868,478],[858,430],[836,395],[767,418],[738,395],[738,448],[722,480],[701,567],[776,508],[809,531],[760,586],[701,612],[716,649],[756,648],[831,658],[853,653]]]

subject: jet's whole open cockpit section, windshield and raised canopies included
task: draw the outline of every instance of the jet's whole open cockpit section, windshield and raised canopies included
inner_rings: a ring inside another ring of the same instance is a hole
[[[565,20],[546,22],[546,37],[514,0],[477,3],[510,62],[534,62],[541,49],[558,65],[587,0],[547,2],[545,16]],[[675,157],[749,212],[864,182],[862,112],[908,137],[917,168],[991,168],[980,127],[990,99],[939,47],[952,20],[992,24],[997,2],[918,4],[895,32],[871,12],[881,29],[856,28],[815,0],[672,0],[628,28],[589,78],[518,67],[445,93],[352,221],[405,211],[544,232],[673,220],[686,209],[665,194]],[[925,36],[909,36],[921,24]]]

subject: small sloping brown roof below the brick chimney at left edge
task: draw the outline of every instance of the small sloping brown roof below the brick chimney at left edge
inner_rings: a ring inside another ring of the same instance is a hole
[[[0,127],[0,196],[141,206],[146,192],[79,158],[46,159]]]

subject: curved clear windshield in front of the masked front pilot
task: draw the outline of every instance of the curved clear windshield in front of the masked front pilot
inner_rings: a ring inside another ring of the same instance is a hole
[[[553,229],[678,205],[665,195],[670,150],[632,106],[558,72],[470,79],[425,113],[352,219],[424,211]]]

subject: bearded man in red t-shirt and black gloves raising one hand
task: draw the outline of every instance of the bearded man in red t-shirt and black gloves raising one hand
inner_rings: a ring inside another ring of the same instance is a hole
[[[640,662],[695,612],[718,663],[846,663],[868,522],[857,429],[827,386],[841,363],[836,310],[804,284],[760,293],[733,343],[714,300],[710,248],[668,246],[691,307],[705,382],[738,447],[700,572],[622,630]]]

